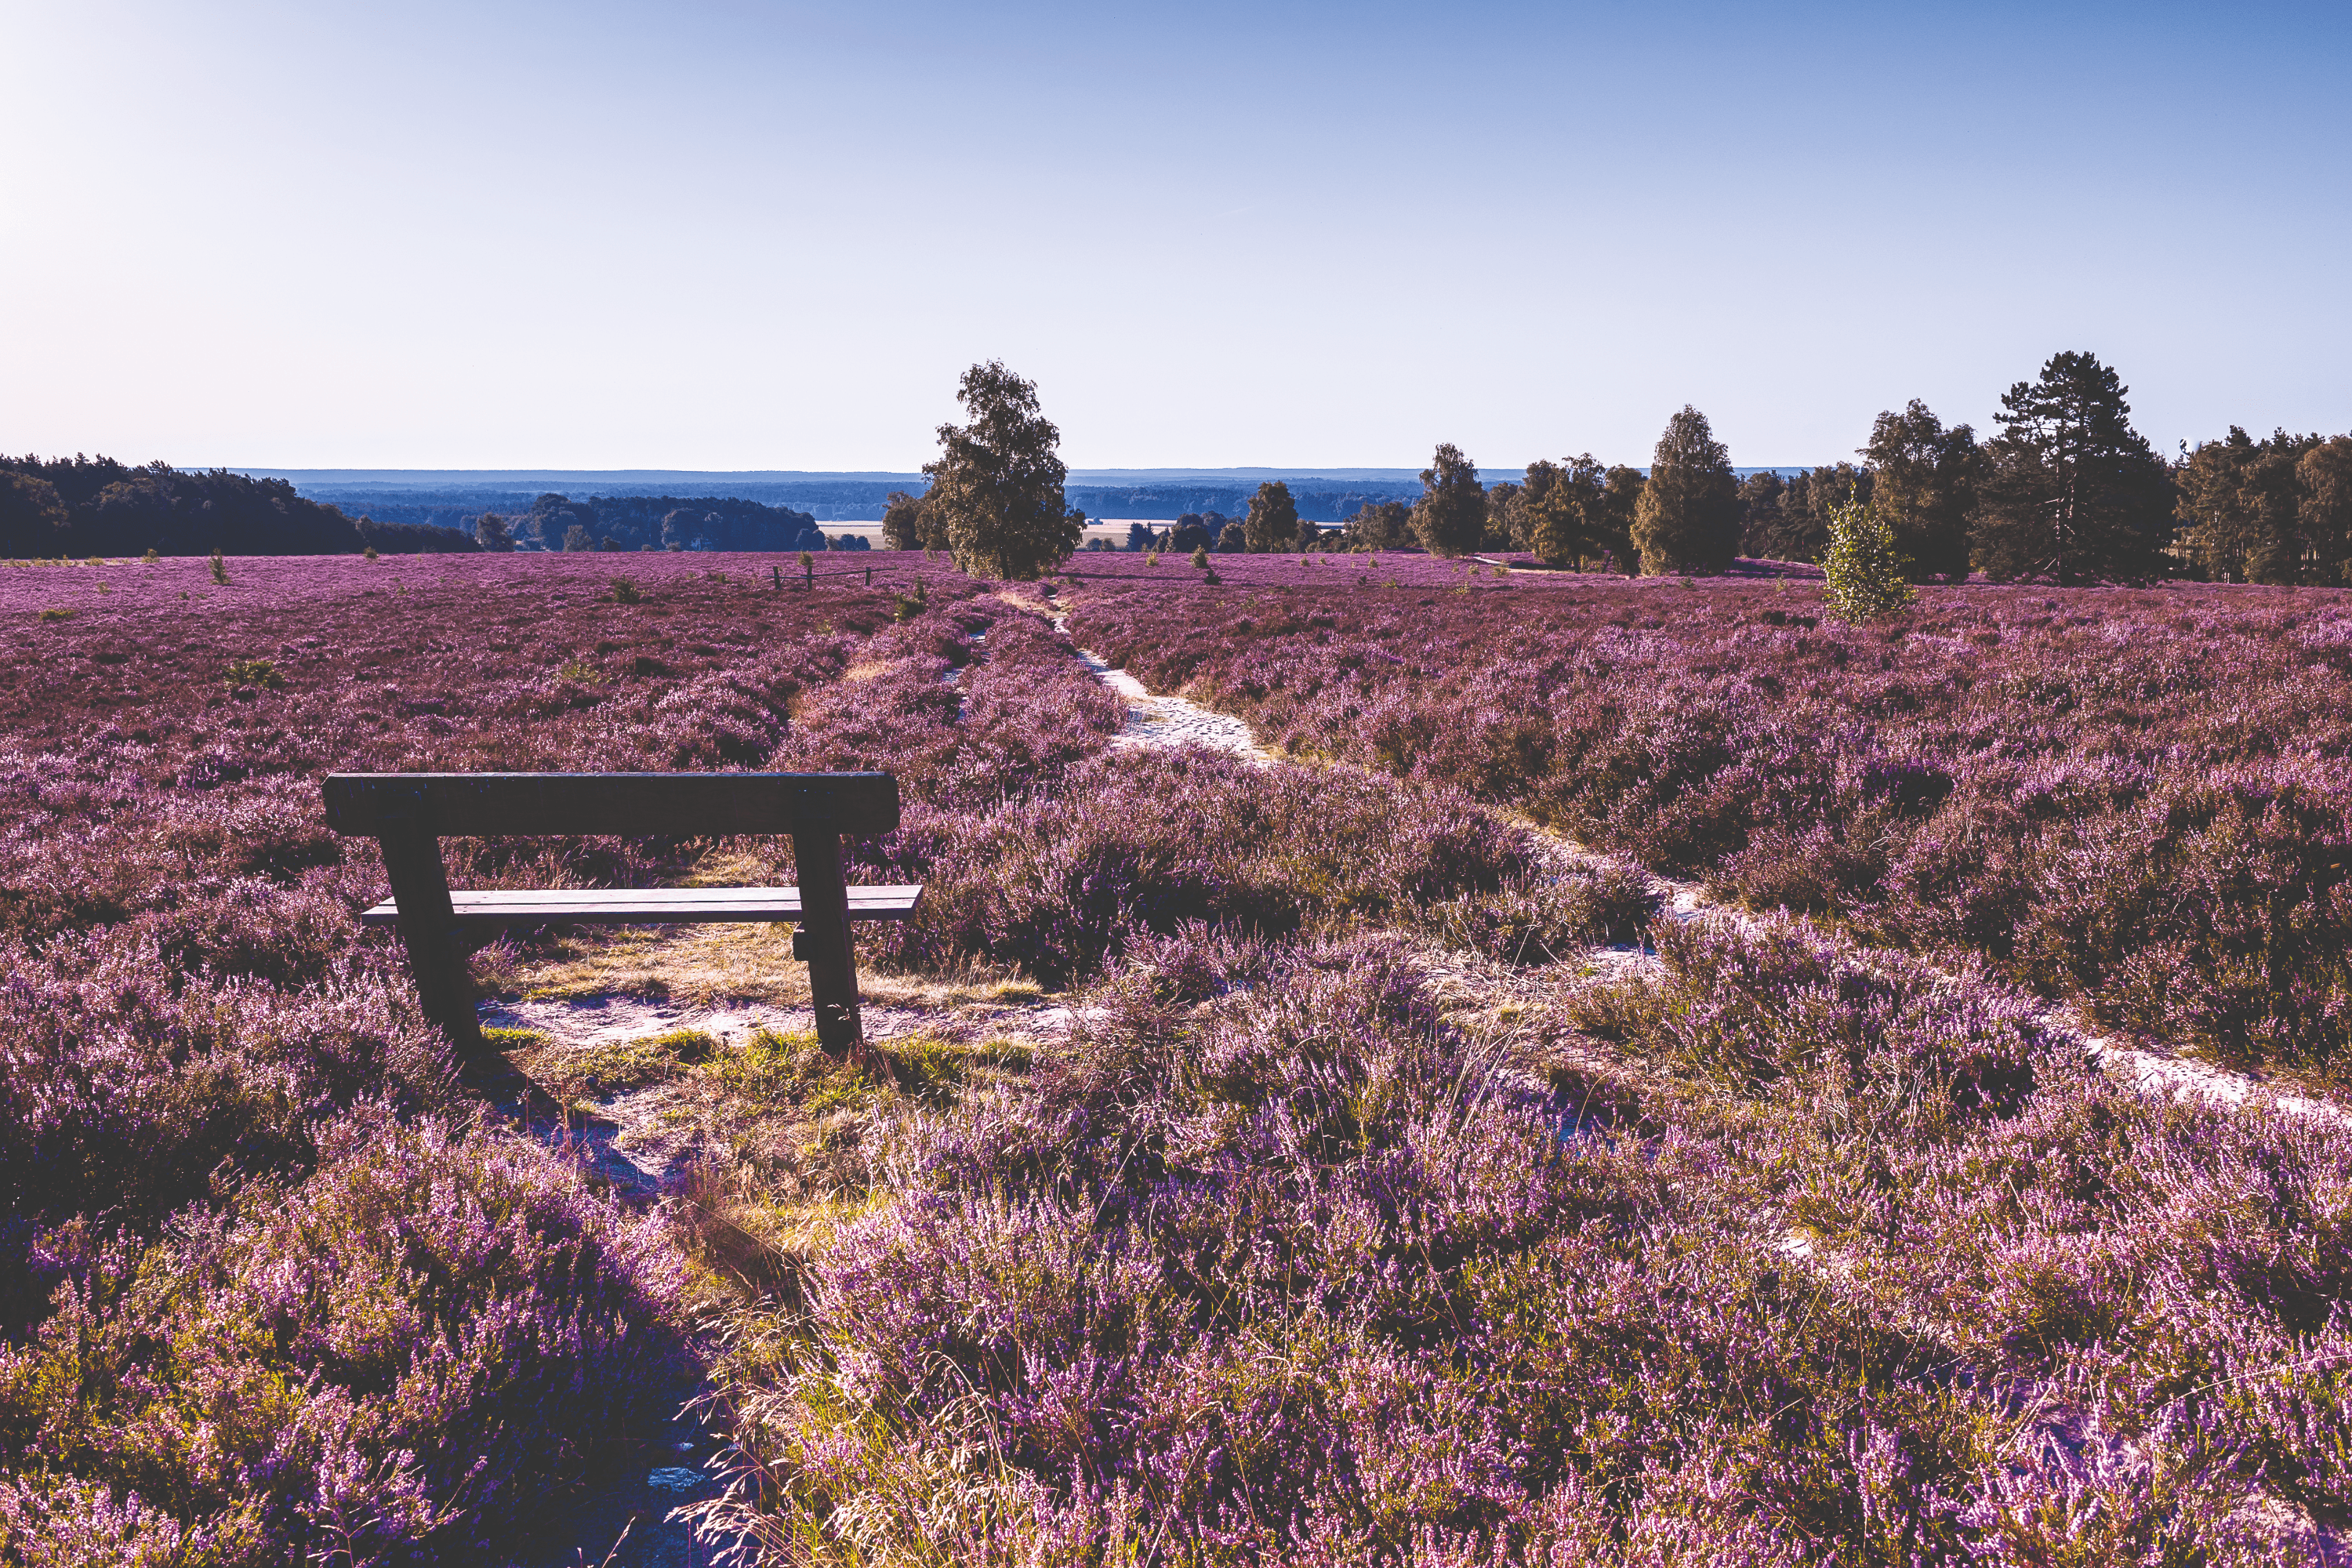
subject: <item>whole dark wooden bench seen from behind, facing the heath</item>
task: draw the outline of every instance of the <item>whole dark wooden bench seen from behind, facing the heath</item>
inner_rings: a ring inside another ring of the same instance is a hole
[[[468,933],[496,926],[793,922],[816,1039],[863,1048],[851,919],[906,919],[920,886],[847,886],[842,835],[898,825],[889,773],[329,773],[327,825],[383,844],[393,896],[360,914],[397,926],[416,997],[461,1053],[485,1051],[466,973]],[[452,893],[445,837],[793,835],[788,889],[499,889]]]

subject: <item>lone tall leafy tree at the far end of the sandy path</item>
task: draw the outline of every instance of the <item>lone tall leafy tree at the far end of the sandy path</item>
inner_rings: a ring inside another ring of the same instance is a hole
[[[971,418],[938,428],[924,505],[946,524],[957,569],[1033,578],[1077,550],[1087,524],[1061,494],[1061,430],[1037,409],[1037,383],[1002,360],[974,364],[955,388]]]

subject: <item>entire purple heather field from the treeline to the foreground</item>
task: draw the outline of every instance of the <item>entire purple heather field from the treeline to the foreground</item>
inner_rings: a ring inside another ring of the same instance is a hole
[[[0,1561],[553,1561],[684,1394],[701,1561],[2338,1561],[2352,595],[776,564],[0,567]],[[673,1041],[790,1135],[652,1197],[459,1074],[318,795],[767,766],[898,776],[896,1006],[1035,1006]]]

